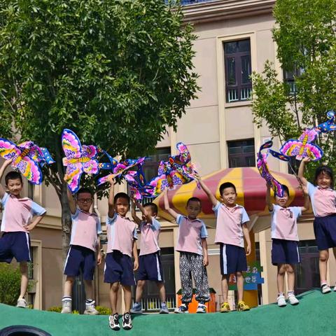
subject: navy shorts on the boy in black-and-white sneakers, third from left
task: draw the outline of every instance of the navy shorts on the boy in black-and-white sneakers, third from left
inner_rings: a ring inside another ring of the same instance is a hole
[[[135,286],[132,258],[120,251],[107,253],[105,258],[104,282],[120,282],[125,286]]]

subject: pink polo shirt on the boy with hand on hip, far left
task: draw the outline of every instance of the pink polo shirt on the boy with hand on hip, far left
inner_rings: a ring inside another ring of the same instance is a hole
[[[5,193],[1,204],[4,209],[1,232],[26,232],[23,225],[29,225],[34,216],[45,214],[45,209],[28,197],[18,198]]]

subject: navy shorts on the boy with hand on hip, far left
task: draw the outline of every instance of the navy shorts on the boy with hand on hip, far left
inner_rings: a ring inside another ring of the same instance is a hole
[[[0,262],[9,264],[13,258],[17,262],[31,261],[30,237],[27,232],[4,232],[0,238]]]

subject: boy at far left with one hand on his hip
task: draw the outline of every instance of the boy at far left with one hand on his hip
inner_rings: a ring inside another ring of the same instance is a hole
[[[0,180],[11,160],[6,160],[0,169]],[[21,290],[17,307],[27,308],[25,295],[28,287],[28,265],[30,258],[29,232],[33,230],[45,215],[45,209],[30,200],[21,197],[22,177],[18,172],[9,172],[5,176],[6,193],[0,184],[0,199],[3,206],[0,238],[0,262],[10,263],[13,258],[20,262]],[[33,217],[35,217],[33,221]]]

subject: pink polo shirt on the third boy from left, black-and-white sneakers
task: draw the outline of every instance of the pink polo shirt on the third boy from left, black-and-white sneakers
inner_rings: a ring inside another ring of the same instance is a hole
[[[133,240],[138,239],[137,225],[130,219],[119,216],[116,212],[112,218],[107,217],[107,251],[120,251],[132,257]]]

